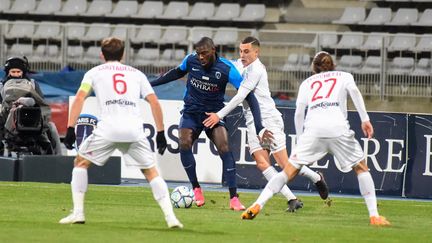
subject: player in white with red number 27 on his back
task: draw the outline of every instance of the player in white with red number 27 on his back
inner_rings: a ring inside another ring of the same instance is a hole
[[[373,126],[369,121],[364,101],[353,76],[334,71],[335,65],[327,52],[318,52],[312,61],[314,75],[302,82],[297,96],[295,127],[299,139],[284,171],[274,176],[256,202],[242,215],[253,219],[265,203],[305,165],[333,154],[344,170],[354,169],[360,192],[369,211],[370,224],[387,226],[390,222],[378,214],[375,185],[359,142],[354,138],[347,120],[347,97],[350,95],[362,121],[361,127],[369,139]],[[307,115],[305,118],[305,109]]]

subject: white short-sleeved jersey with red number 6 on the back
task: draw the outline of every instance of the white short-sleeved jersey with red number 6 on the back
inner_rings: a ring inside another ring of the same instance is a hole
[[[107,62],[89,70],[82,84],[90,85],[101,109],[94,133],[113,142],[135,142],[144,136],[139,101],[154,91],[142,72]]]

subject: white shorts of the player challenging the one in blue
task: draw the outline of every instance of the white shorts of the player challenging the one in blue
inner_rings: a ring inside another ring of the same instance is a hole
[[[273,133],[274,139],[271,144],[260,144],[257,137],[255,124],[253,122],[253,116],[250,112],[247,112],[245,114],[245,118],[246,126],[248,129],[247,138],[250,154],[253,154],[254,152],[261,149],[267,149],[270,150],[270,152],[272,153],[276,153],[286,148],[286,135],[284,132],[284,123],[282,120],[282,116],[265,118],[262,121],[263,126]]]

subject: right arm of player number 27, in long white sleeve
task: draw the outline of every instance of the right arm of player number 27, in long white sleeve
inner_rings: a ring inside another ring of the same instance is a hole
[[[373,137],[374,129],[372,123],[370,122],[369,115],[367,114],[363,97],[360,93],[360,90],[357,88],[357,85],[355,85],[354,80],[350,82],[350,84],[347,86],[347,89],[354,103],[354,106],[357,109],[357,112],[360,116],[360,120],[362,122],[361,128],[363,130],[363,134],[370,139]]]

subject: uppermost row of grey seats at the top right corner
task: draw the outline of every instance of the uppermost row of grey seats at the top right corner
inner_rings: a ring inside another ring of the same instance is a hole
[[[399,8],[393,13],[391,8],[374,7],[366,16],[364,7],[346,7],[342,16],[332,22],[346,25],[432,26],[432,9],[419,13],[415,8]]]

